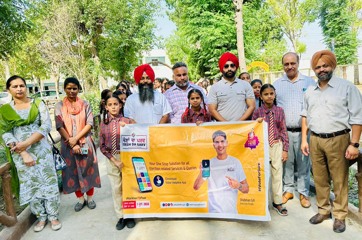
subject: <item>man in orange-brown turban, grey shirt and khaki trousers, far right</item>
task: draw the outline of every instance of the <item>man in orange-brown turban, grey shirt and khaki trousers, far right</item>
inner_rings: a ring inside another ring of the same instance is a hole
[[[318,214],[309,222],[318,224],[331,219],[329,193],[332,177],[333,231],[346,229],[348,213],[349,160],[358,156],[358,141],[362,130],[362,95],[357,87],[333,76],[337,59],[333,52],[316,52],[311,61],[318,81],[304,94],[302,116],[302,144],[304,155],[311,154],[313,176],[317,192]],[[352,128],[352,138],[350,131]],[[310,148],[308,131],[312,130]]]

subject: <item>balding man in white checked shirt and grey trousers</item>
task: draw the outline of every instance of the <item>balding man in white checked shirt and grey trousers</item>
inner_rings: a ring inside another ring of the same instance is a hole
[[[300,151],[302,136],[303,97],[307,88],[315,81],[311,77],[304,76],[298,71],[299,56],[294,52],[288,52],[282,57],[285,75],[276,80],[273,85],[276,91],[277,104],[285,112],[285,123],[289,138],[289,160],[283,162],[283,204],[294,196],[294,160],[298,166],[297,187],[302,207],[310,207],[308,200],[311,159]],[[309,139],[308,139],[309,141]]]

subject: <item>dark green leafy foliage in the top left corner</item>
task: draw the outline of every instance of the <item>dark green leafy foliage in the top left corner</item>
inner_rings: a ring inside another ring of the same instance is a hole
[[[0,59],[13,55],[33,28],[33,23],[24,14],[29,7],[25,0],[0,1]]]

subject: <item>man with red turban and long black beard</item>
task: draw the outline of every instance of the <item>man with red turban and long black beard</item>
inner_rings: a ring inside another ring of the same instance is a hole
[[[127,98],[125,117],[131,119],[132,123],[167,123],[172,110],[165,96],[153,90],[155,72],[151,66],[144,64],[137,67],[133,76],[138,85],[138,92]]]

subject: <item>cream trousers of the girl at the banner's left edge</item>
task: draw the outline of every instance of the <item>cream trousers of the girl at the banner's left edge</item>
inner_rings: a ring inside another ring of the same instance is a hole
[[[120,154],[117,154],[114,157],[118,161],[121,160]],[[123,218],[122,172],[121,169],[116,167],[109,159],[106,160],[106,167],[107,175],[111,183],[114,211],[117,218]]]

